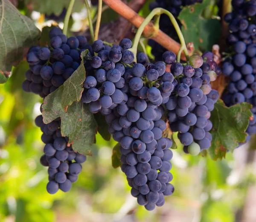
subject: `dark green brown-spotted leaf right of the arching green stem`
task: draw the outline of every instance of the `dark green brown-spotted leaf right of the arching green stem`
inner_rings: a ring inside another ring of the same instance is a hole
[[[205,19],[202,14],[211,0],[204,0],[192,6],[184,7],[178,16],[183,25],[181,31],[186,43],[194,43],[196,50],[212,50],[221,37],[221,23],[217,19]]]

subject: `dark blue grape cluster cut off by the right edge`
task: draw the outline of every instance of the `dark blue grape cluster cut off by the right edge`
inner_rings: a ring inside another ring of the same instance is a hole
[[[225,15],[230,34],[227,37],[230,57],[222,64],[222,72],[229,76],[223,101],[227,106],[249,102],[253,119],[247,128],[246,141],[256,134],[256,1],[233,0],[233,11]]]

